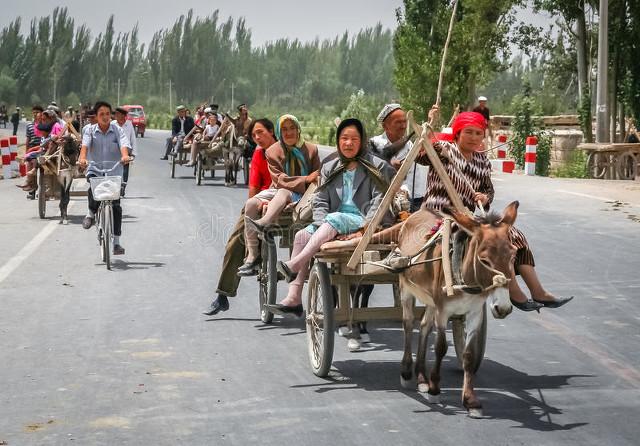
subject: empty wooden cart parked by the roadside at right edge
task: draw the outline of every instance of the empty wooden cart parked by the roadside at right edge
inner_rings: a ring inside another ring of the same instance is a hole
[[[591,178],[635,180],[638,175],[640,144],[584,143],[578,149],[587,153]]]

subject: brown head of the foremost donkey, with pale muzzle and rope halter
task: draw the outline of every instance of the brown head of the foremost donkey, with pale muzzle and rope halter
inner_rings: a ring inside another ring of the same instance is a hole
[[[507,317],[513,309],[508,284],[513,276],[516,247],[511,243],[509,231],[518,215],[518,206],[514,201],[502,215],[490,213],[475,218],[450,212],[458,226],[471,236],[462,263],[462,278],[467,285],[488,291],[483,294],[497,319]]]

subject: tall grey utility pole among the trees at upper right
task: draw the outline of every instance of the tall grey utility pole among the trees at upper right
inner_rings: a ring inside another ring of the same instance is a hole
[[[609,70],[609,0],[600,0],[598,26],[598,86],[596,96],[596,142],[609,142],[607,91]]]

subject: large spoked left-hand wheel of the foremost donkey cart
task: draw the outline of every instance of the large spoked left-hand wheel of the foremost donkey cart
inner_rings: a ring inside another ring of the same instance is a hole
[[[333,362],[333,288],[326,263],[316,262],[309,275],[307,345],[316,376],[326,377]]]

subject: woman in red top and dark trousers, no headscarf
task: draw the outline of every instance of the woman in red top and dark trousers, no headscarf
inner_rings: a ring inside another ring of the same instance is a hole
[[[253,121],[249,127],[249,134],[257,144],[256,150],[251,158],[249,170],[249,198],[258,192],[269,189],[271,186],[271,175],[267,167],[265,150],[276,143],[273,123],[266,118]],[[227,241],[225,248],[222,271],[216,289],[217,297],[204,312],[207,316],[213,316],[220,311],[229,309],[227,297],[234,297],[240,284],[238,268],[244,263],[245,242],[244,242],[244,207],[240,213],[240,218],[236,222],[233,232]]]

